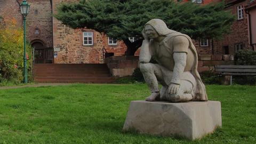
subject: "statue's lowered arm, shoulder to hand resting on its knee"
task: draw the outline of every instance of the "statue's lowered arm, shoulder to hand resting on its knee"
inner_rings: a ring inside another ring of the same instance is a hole
[[[180,85],[180,76],[184,72],[187,61],[187,51],[188,51],[189,42],[186,37],[177,36],[173,40],[173,60],[174,68],[173,75],[168,87],[168,92],[171,94],[177,93]]]

